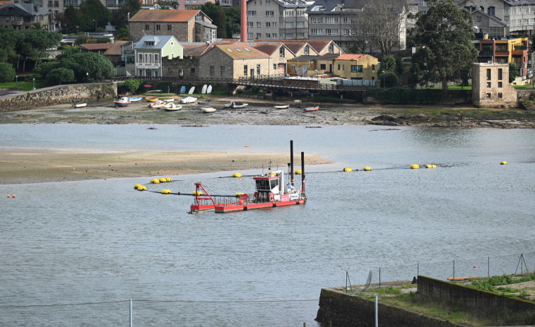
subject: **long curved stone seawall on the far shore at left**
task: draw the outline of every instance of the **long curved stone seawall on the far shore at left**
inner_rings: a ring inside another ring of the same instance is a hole
[[[111,100],[115,97],[117,97],[117,83],[56,85],[0,97],[0,112]]]

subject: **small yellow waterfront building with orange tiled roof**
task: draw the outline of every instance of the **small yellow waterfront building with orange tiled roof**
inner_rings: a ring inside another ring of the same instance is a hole
[[[333,60],[333,73],[348,80],[375,81],[378,62],[369,54],[341,54]]]

